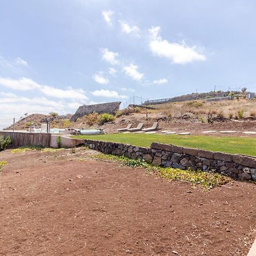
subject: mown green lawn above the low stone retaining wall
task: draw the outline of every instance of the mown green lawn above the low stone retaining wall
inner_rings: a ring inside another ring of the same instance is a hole
[[[165,134],[104,134],[77,135],[75,137],[80,139],[120,142],[143,147],[149,147],[152,142],[160,142],[183,147],[201,148],[210,151],[256,156],[255,137],[208,137]]]

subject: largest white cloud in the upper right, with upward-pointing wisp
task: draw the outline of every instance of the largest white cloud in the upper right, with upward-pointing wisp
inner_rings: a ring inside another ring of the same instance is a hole
[[[160,27],[152,27],[148,31],[150,33],[149,46],[154,55],[166,57],[177,64],[206,60],[204,55],[197,52],[198,48],[196,46],[189,47],[185,42],[180,44],[163,40],[162,37],[159,36]]]

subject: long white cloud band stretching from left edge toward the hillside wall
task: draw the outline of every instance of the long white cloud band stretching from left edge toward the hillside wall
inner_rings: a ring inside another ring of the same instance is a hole
[[[67,90],[58,89],[48,85],[40,85],[32,79],[22,77],[21,79],[10,79],[0,77],[0,85],[5,86],[14,90],[40,90],[47,96],[55,98],[69,98],[76,100],[88,100],[88,97],[84,94],[84,91],[81,89],[68,88]]]

